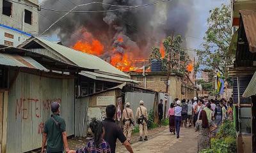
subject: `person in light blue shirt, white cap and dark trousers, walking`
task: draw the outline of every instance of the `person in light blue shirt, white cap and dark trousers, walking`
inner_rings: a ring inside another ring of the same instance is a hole
[[[174,108],[175,113],[175,129],[177,133],[177,138],[180,138],[180,122],[181,122],[181,111],[182,108],[180,107],[180,101],[176,101],[177,106]]]

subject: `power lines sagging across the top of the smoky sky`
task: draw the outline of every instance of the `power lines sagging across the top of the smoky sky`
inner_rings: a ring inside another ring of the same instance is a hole
[[[56,12],[63,12],[63,13],[67,13],[67,12],[69,12],[69,13],[100,13],[100,12],[108,12],[108,11],[124,11],[124,10],[131,10],[131,9],[135,9],[135,8],[142,8],[142,7],[145,7],[145,6],[151,6],[151,5],[155,5],[155,4],[165,3],[165,2],[168,2],[170,0],[164,0],[164,1],[159,1],[159,2],[156,2],[156,3],[143,4],[143,5],[138,5],[138,6],[117,6],[117,5],[111,5],[111,4],[106,4],[106,3],[93,2],[93,3],[110,5],[110,6],[116,6],[116,7],[126,7],[126,8],[116,9],[116,10],[99,10],[99,11],[63,11],[63,10],[53,10],[53,9],[49,9],[49,8],[36,7],[36,6],[29,5],[29,4],[19,3],[19,2],[16,2],[16,1],[12,1],[12,0],[6,0],[6,1],[10,1],[10,2],[13,2],[13,3],[18,3],[18,4],[23,4],[23,5],[26,5],[26,6],[31,6],[31,7],[35,7],[35,8],[41,9],[41,10],[47,10],[47,11],[56,11]],[[93,3],[90,3],[90,4],[93,4]]]

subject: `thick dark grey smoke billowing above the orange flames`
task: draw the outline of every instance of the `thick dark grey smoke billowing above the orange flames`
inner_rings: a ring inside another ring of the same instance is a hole
[[[91,3],[90,1],[73,1],[76,4]],[[136,6],[154,3],[153,0],[102,0],[99,2]],[[42,7],[54,10],[71,10],[74,3],[69,0],[45,0]],[[63,45],[72,47],[78,40],[83,38],[83,32],[91,33],[93,38],[104,44],[104,55],[110,55],[109,50],[115,48],[116,52],[132,52],[134,57],[148,57],[151,48],[160,46],[166,36],[172,32],[185,36],[188,33],[189,22],[195,12],[196,0],[173,0],[154,6],[146,6],[124,11],[109,11],[104,13],[69,13],[60,22],[52,26],[46,34],[57,34]],[[79,6],[74,11],[116,10],[116,6],[91,4]],[[55,20],[65,13],[42,10],[45,17],[40,16],[39,30],[42,33]],[[122,38],[122,42],[118,41]],[[186,47],[186,43],[184,43]]]

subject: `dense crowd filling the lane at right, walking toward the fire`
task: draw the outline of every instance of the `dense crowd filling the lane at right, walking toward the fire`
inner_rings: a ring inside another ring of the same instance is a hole
[[[233,120],[233,101],[226,99],[182,99],[171,103],[168,110],[170,133],[179,138],[180,127],[195,127],[198,131],[198,152],[211,147],[211,136],[218,133],[221,124]],[[175,133],[176,132],[176,133]]]

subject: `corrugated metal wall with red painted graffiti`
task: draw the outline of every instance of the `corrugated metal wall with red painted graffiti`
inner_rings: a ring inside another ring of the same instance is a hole
[[[19,73],[8,99],[8,153],[41,147],[44,122],[51,115],[53,101],[61,104],[68,136],[74,135],[74,79]]]

